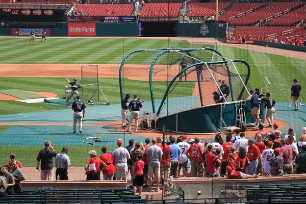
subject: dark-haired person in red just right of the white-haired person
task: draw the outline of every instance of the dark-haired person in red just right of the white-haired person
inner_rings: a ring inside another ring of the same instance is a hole
[[[100,156],[100,160],[106,163],[107,167],[102,171],[103,172],[103,180],[113,181],[114,180],[114,173],[116,172],[116,168],[113,164],[113,157],[112,155],[107,152],[107,146],[103,146],[101,148],[103,155]]]

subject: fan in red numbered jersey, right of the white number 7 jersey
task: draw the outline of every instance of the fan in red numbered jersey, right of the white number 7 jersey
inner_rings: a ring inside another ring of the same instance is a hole
[[[187,149],[186,156],[188,159],[191,160],[191,175],[193,177],[196,177],[196,176],[201,177],[203,176],[203,173],[204,173],[204,168],[202,164],[202,154],[204,150],[203,150],[202,145],[199,144],[201,139],[198,136],[194,138],[194,141],[195,143]],[[211,172],[213,171],[214,169],[212,169]]]

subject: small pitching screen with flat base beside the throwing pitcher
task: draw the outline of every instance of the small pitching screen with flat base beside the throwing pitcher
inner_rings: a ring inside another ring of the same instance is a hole
[[[102,89],[99,87],[98,65],[83,65],[81,66],[81,79],[78,88],[79,95],[86,105],[89,104],[104,104],[110,105]],[[70,100],[66,100],[70,96],[72,86],[65,86],[65,96],[60,99],[45,100],[46,103],[54,103],[59,105],[71,106],[73,101],[77,99],[77,94],[74,94]]]

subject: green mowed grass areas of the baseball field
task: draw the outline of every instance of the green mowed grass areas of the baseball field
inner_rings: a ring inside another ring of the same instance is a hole
[[[0,38],[0,67],[2,64],[120,64],[123,57],[135,49],[148,49],[160,47],[179,46],[184,40],[157,40],[157,39],[137,39],[137,38],[49,38],[48,42],[40,40],[30,43],[28,38]],[[203,38],[205,41],[205,38]],[[193,45],[194,47],[194,45]],[[261,88],[263,82],[266,82],[263,92],[271,92],[271,97],[277,102],[291,102],[290,88],[292,80],[297,78],[301,80],[301,86],[306,83],[303,81],[306,77],[304,71],[306,61],[281,55],[272,55],[262,52],[251,51],[237,47],[218,45],[219,52],[228,59],[242,59],[248,62],[251,68],[249,86],[254,89]],[[281,50],[279,52],[290,52]],[[149,52],[139,56],[133,56],[127,61],[127,64],[150,64],[148,59],[154,59],[156,52]],[[177,57],[177,56],[175,56]],[[156,64],[168,64],[171,62],[171,55],[163,55]],[[230,64],[231,71],[235,72],[234,66]],[[43,67],[42,67],[43,69]],[[244,66],[237,65],[240,73],[246,73]],[[135,73],[148,74],[148,73]],[[64,86],[67,85],[63,78],[4,78],[0,77],[0,90],[2,89],[22,89],[29,91],[48,91],[56,93],[59,97],[64,96]],[[148,82],[132,81],[124,79],[126,84],[133,89],[135,93],[142,95],[142,100],[149,100]],[[116,78],[103,78],[99,80],[100,87],[107,96],[111,104],[120,103],[119,85]],[[168,82],[154,82],[157,88],[154,89],[155,98],[162,98],[165,93],[165,87]],[[133,84],[133,86],[131,85]],[[177,84],[180,95],[192,95],[194,82]],[[211,95],[207,96],[211,97]],[[302,93],[300,98],[303,98]],[[40,109],[39,107],[43,107]],[[38,112],[46,110],[65,109],[65,107],[50,106],[46,104],[25,104],[16,101],[0,100],[0,114],[14,114],[25,112]],[[0,133],[8,126],[0,126]],[[22,148],[2,146],[1,163],[7,162],[9,154],[16,152],[18,159],[22,164],[35,166],[35,159],[40,146],[26,146]],[[61,147],[56,147],[60,150]],[[69,150],[69,156],[73,160],[74,166],[84,166],[87,161],[87,152],[90,146],[75,146]],[[27,154],[24,154],[27,151]],[[21,156],[22,155],[22,156]]]

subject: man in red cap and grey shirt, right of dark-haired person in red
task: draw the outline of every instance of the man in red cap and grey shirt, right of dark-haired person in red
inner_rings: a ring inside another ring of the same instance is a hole
[[[127,176],[127,168],[128,168],[127,160],[131,159],[129,151],[127,150],[127,148],[122,147],[122,144],[123,144],[123,141],[121,139],[118,139],[117,140],[118,148],[114,149],[113,154],[112,154],[113,164],[115,165],[115,168],[116,168],[116,172],[115,172],[116,180],[125,180]],[[133,144],[134,144],[134,139],[133,139]]]

